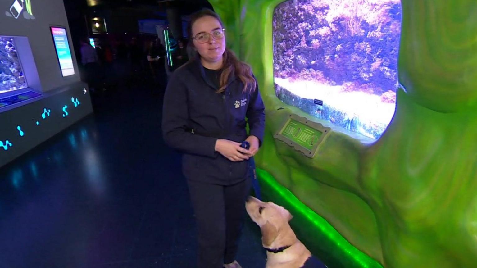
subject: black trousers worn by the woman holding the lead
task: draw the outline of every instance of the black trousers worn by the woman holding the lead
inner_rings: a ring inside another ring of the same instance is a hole
[[[237,255],[251,178],[231,186],[187,183],[197,221],[197,267],[222,268]]]

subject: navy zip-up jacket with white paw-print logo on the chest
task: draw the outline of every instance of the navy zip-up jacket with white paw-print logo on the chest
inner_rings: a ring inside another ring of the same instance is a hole
[[[231,185],[247,177],[249,161],[228,160],[215,152],[215,143],[218,139],[242,142],[254,135],[261,146],[265,107],[258,85],[253,92],[243,92],[238,77],[228,80],[224,93],[216,91],[200,60],[178,68],[164,97],[163,138],[166,144],[183,153],[182,169],[187,179]]]

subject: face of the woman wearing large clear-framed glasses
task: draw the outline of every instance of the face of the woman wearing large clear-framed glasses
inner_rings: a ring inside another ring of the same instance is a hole
[[[225,35],[220,22],[211,16],[205,16],[192,25],[194,47],[203,60],[219,62],[225,51]],[[208,35],[207,35],[208,34]]]

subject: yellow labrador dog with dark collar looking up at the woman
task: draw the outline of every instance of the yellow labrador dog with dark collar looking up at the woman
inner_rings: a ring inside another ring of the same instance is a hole
[[[260,227],[262,245],[267,249],[265,268],[301,268],[311,258],[311,252],[295,236],[288,222],[288,210],[272,202],[262,202],[249,196],[247,213]]]

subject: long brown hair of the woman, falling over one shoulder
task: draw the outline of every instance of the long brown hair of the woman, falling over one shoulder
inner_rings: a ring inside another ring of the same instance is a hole
[[[192,40],[192,25],[194,23],[203,17],[206,16],[211,16],[214,17],[222,27],[224,27],[224,24],[222,23],[222,20],[220,20],[220,17],[217,15],[212,10],[209,9],[203,9],[200,11],[197,11],[196,13],[192,14],[190,16],[190,23],[187,28],[187,32],[189,34],[190,40],[190,45],[193,45],[193,40]],[[198,53],[197,53],[198,54]],[[200,57],[200,55],[197,55]],[[243,92],[249,91],[253,92],[255,90],[255,87],[257,86],[257,82],[255,78],[252,75],[252,68],[250,67],[249,64],[240,61],[237,56],[235,55],[234,52],[232,52],[230,49],[226,48],[223,54],[223,63],[222,67],[220,68],[221,75],[220,75],[220,87],[217,91],[217,93],[222,93],[225,91],[227,82],[229,77],[231,76],[237,76],[239,79],[242,81],[244,84]]]

